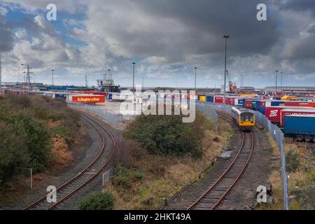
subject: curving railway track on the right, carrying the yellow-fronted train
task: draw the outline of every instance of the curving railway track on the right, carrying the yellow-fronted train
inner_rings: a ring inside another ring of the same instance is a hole
[[[232,119],[224,113],[218,114]],[[253,132],[241,132],[241,146],[235,158],[230,162],[230,165],[228,165],[223,174],[215,179],[214,183],[193,204],[190,204],[188,210],[212,210],[221,204],[225,196],[228,195],[233,186],[235,186],[235,183],[240,179],[241,174],[244,173],[248,162],[251,160],[254,143]]]

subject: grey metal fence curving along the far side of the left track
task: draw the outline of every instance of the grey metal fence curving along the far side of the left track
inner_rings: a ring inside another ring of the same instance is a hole
[[[69,106],[73,106],[76,109],[80,109],[82,111],[94,113],[98,115],[100,118],[106,120],[108,123],[116,127],[118,130],[123,130],[125,125],[123,124],[123,115],[120,113],[115,113],[114,111],[110,111],[108,109],[104,109],[102,106],[95,105],[87,105],[80,103],[67,102]]]

